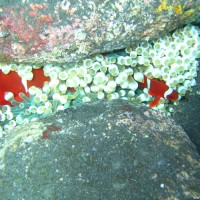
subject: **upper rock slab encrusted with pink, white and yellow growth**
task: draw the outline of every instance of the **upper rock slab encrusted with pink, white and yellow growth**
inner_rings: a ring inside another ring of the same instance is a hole
[[[200,0],[1,1],[0,62],[69,64],[199,16]]]

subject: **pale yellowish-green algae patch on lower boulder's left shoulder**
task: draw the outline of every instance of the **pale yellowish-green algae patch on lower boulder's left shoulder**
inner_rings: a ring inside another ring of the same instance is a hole
[[[19,147],[25,147],[28,143],[34,143],[43,136],[43,132],[46,130],[45,125],[42,122],[32,122],[16,127],[12,133],[6,134],[4,138],[4,144],[1,144],[0,151],[0,168],[4,168],[4,161],[7,151],[15,152]]]

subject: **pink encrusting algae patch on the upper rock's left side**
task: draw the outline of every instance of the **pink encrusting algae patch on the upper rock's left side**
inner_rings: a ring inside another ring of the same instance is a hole
[[[17,7],[15,10],[10,8],[3,10],[4,14],[0,18],[0,25],[7,36],[2,38],[2,42],[7,43],[11,49],[8,52],[9,55],[22,56],[45,49],[47,40],[41,37],[41,31],[43,25],[48,26],[53,23],[51,14],[43,14],[42,11],[46,9],[47,7],[42,4],[31,4],[30,7],[22,8],[20,11]],[[25,17],[27,12],[31,15],[30,18]],[[21,49],[21,51],[16,49]]]

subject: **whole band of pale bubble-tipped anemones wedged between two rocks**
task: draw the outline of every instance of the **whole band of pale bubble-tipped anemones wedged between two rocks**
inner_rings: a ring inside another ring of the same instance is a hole
[[[7,132],[52,112],[96,99],[122,98],[149,104],[155,101],[154,96],[159,96],[151,107],[169,115],[173,112],[171,105],[177,104],[196,83],[198,61],[195,59],[200,58],[199,35],[198,27],[187,25],[151,43],[141,42],[120,52],[82,60],[70,69],[67,65],[47,64],[42,70],[49,81],[43,80],[43,87],[29,85],[27,93],[19,93],[21,101],[17,101],[10,91],[4,94],[3,98],[10,105],[0,106],[0,131]],[[0,70],[6,76],[15,71],[22,82],[32,80],[33,70],[39,68],[41,66],[0,64]],[[154,85],[138,87],[145,78],[149,82],[154,81]],[[35,80],[35,83],[42,81],[37,77]],[[163,86],[167,87],[164,91]],[[167,98],[166,90],[167,93],[175,91],[177,98]]]

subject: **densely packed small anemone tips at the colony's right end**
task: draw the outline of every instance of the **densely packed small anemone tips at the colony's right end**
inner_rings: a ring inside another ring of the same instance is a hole
[[[199,34],[198,27],[188,25],[176,30],[172,36],[164,35],[154,40],[152,44],[138,44],[130,56],[134,55],[135,58],[137,53],[138,63],[143,66],[141,71],[147,77],[164,80],[173,89],[180,90],[182,85],[186,92],[195,84],[194,78],[197,76]],[[185,92],[179,93],[184,95]]]

